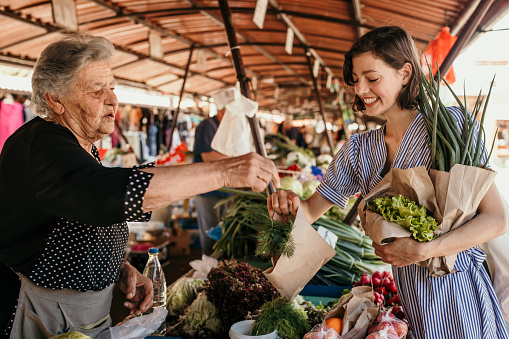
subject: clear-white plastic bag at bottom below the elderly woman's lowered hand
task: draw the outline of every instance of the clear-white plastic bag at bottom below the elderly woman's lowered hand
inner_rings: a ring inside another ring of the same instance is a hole
[[[97,339],[143,339],[154,333],[166,320],[168,310],[164,307],[156,307],[150,314],[135,317],[129,321],[114,327],[109,331],[103,331]]]

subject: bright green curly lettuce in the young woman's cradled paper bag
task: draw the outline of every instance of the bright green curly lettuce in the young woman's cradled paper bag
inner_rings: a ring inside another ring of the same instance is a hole
[[[403,195],[378,197],[369,203],[368,209],[380,214],[384,219],[395,222],[412,232],[415,240],[431,241],[438,223],[424,206],[418,205]]]

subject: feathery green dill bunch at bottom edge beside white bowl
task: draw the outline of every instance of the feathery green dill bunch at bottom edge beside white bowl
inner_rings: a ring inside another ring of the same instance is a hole
[[[280,297],[263,304],[251,335],[264,335],[277,329],[279,338],[299,339],[310,328],[306,313],[285,297]]]

